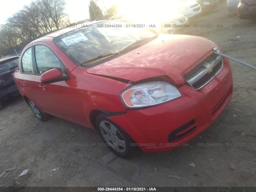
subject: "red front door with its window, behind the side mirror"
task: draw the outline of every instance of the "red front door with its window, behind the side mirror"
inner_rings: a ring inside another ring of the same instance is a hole
[[[36,76],[36,98],[40,108],[44,112],[54,116],[68,118],[77,122],[85,122],[83,106],[76,100],[76,95],[81,92],[76,88],[74,80],[60,81],[50,84],[42,84],[40,75],[57,68],[62,72],[65,66],[60,59],[45,45],[35,46],[35,63],[39,76]]]

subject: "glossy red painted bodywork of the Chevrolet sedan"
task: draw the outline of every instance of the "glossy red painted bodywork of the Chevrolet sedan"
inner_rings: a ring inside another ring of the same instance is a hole
[[[144,144],[140,145],[143,151],[170,150],[188,142],[220,116],[232,96],[232,73],[225,58],[222,70],[201,90],[196,91],[184,82],[183,75],[216,47],[204,38],[159,36],[140,48],[88,69],[76,66],[52,42],[52,37],[40,38],[26,48],[37,44],[48,46],[58,56],[70,79],[42,84],[41,80],[47,80],[50,71],[40,77],[17,70],[14,80],[20,93],[30,98],[43,112],[92,129],[94,122],[90,121],[90,113],[93,110],[123,112],[109,119],[122,127],[135,142]],[[56,70],[52,71],[59,75]],[[131,84],[99,75],[133,82],[166,75],[178,87],[182,97],[156,106],[130,110],[123,104],[120,93]],[[192,120],[196,128],[175,142],[168,143],[172,131]]]

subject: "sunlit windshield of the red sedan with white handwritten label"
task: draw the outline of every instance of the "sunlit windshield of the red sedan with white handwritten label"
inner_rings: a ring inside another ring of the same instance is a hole
[[[126,25],[118,21],[99,22],[62,34],[54,38],[54,43],[76,65],[89,65],[94,59],[93,62],[97,62],[108,58],[139,40],[156,36],[147,30]]]

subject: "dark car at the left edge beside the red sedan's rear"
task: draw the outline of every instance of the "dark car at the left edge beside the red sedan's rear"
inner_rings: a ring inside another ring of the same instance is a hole
[[[19,58],[19,56],[11,56],[0,59],[0,109],[4,99],[19,94],[12,76],[18,68]]]

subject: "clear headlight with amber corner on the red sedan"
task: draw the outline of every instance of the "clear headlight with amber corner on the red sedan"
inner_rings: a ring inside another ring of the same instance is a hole
[[[122,101],[129,108],[157,105],[180,96],[178,89],[166,82],[138,84],[130,86],[121,93]]]

